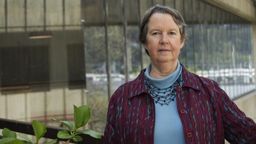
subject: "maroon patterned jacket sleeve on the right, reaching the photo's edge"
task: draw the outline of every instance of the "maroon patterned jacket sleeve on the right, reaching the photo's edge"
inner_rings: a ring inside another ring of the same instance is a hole
[[[214,89],[218,93],[225,139],[230,143],[256,143],[256,124],[253,120],[245,116],[217,83]]]

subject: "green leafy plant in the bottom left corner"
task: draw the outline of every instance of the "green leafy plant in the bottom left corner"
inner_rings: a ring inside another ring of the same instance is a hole
[[[38,144],[39,139],[41,139],[45,132],[46,132],[46,125],[44,123],[39,123],[38,121],[33,121],[32,122],[32,127],[35,133],[36,137],[36,142],[34,142],[32,139],[28,138],[27,135],[18,133],[16,134],[15,132],[4,128],[2,131],[3,138],[0,139],[0,144]],[[24,140],[19,140],[17,139],[17,135],[21,137]],[[54,139],[50,142],[45,142],[43,144],[53,144],[57,143],[57,139]]]

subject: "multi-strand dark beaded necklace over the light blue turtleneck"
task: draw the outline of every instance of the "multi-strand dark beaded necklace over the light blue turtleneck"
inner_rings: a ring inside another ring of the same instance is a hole
[[[177,94],[177,86],[183,84],[182,75],[180,74],[178,79],[169,87],[161,89],[150,83],[148,78],[144,76],[146,89],[150,93],[151,97],[156,103],[159,103],[161,106],[169,105],[171,101],[174,101],[174,98]],[[159,95],[160,94],[160,95]]]

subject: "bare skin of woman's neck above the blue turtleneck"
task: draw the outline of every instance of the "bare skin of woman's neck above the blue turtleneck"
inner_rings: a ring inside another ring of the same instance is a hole
[[[152,78],[163,78],[172,74],[177,69],[178,60],[175,62],[154,63],[151,61],[149,76]]]

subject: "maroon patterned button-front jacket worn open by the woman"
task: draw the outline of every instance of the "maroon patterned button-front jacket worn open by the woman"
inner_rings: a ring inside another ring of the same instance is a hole
[[[121,85],[109,101],[103,143],[154,143],[155,105],[144,83],[145,69]],[[186,143],[256,143],[256,124],[211,79],[182,66],[177,107]]]

